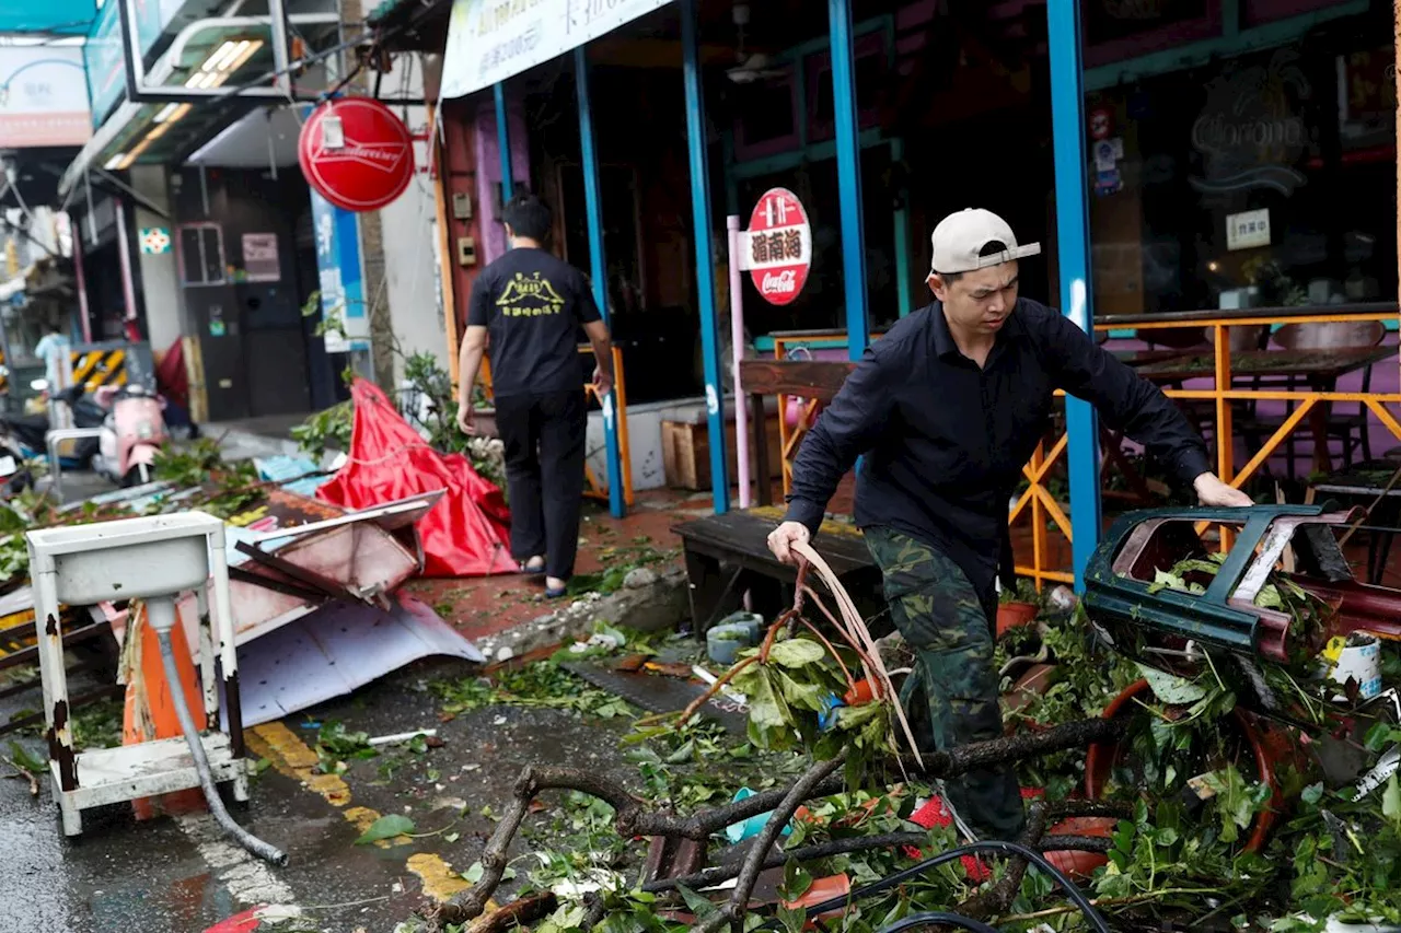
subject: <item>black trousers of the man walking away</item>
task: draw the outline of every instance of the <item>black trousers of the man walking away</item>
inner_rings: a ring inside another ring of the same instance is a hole
[[[579,551],[588,409],[580,389],[496,399],[506,448],[511,556],[545,555],[545,573],[567,580]]]

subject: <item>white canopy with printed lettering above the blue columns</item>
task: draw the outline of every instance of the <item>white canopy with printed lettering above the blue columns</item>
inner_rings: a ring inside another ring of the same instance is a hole
[[[612,32],[671,0],[504,4],[455,0],[443,56],[443,97],[465,97]]]

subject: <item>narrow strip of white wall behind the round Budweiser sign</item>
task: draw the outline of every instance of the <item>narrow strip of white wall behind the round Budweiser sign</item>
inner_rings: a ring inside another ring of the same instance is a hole
[[[423,62],[417,55],[394,59],[394,70],[384,76],[380,97],[389,102],[409,126],[409,132],[427,132],[427,111],[422,106],[396,106],[395,97],[423,97]],[[385,293],[389,321],[405,354],[427,352],[447,367],[447,335],[434,258],[437,207],[433,182],[427,174],[429,148],[415,143],[419,172],[408,191],[380,212],[384,238]],[[395,360],[395,374],[402,377],[403,360]]]

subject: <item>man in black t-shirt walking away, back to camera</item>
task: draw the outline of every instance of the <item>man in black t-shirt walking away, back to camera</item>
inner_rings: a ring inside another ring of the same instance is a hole
[[[574,572],[588,412],[579,329],[594,349],[594,389],[612,391],[612,346],[583,273],[541,247],[551,210],[531,193],[503,212],[510,249],[472,286],[458,366],[458,424],[476,433],[472,387],[490,347],[496,429],[506,455],[511,556],[562,597]]]

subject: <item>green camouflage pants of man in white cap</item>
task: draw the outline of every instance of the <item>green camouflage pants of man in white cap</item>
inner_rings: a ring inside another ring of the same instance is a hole
[[[915,675],[906,679],[901,700],[922,749],[1000,738],[993,626],[985,608],[992,600],[979,598],[967,574],[937,548],[891,528],[863,531],[885,577],[891,619],[915,651]],[[919,692],[927,719],[911,705]],[[1021,835],[1026,815],[1010,766],[968,772],[944,782],[944,790],[981,836],[1016,841]]]

